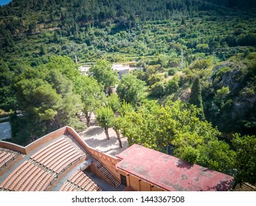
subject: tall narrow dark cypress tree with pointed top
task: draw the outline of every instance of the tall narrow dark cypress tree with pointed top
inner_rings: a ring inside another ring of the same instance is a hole
[[[201,97],[201,85],[198,77],[193,82],[189,102],[190,104],[194,104],[196,107],[201,109],[200,113],[198,114],[198,118],[200,118],[201,120],[204,120],[205,118],[204,118],[204,108],[203,108],[202,97]]]

